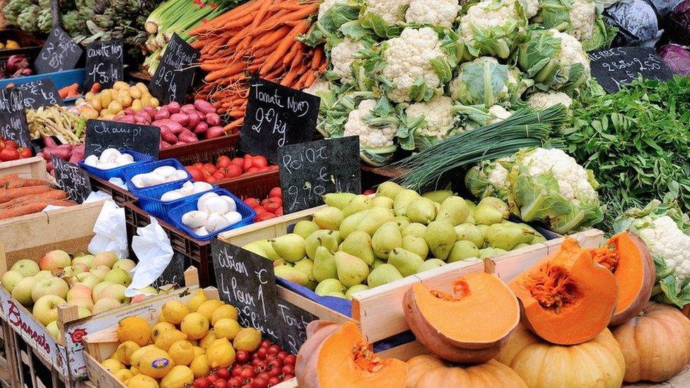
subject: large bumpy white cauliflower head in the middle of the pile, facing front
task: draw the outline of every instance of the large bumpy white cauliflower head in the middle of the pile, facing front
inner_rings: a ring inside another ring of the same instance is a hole
[[[440,49],[438,35],[431,28],[416,30],[405,28],[399,37],[387,41],[383,57],[386,66],[382,74],[394,85],[386,95],[394,102],[409,101],[409,90],[419,78],[424,78],[428,88],[437,89],[440,79],[433,71],[431,60],[445,57]]]

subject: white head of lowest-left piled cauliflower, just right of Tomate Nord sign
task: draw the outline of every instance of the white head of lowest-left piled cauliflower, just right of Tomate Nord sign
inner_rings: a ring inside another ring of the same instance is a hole
[[[366,148],[392,147],[396,130],[394,126],[370,127],[362,119],[375,106],[376,100],[360,102],[357,109],[348,114],[343,136],[359,136],[359,143]]]

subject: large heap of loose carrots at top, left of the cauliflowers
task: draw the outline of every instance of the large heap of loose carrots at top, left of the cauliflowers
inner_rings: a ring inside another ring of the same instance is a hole
[[[189,31],[192,46],[201,50],[201,69],[208,74],[197,98],[214,104],[218,113],[235,120],[225,127],[242,127],[250,77],[295,89],[308,88],[326,69],[322,47],[296,41],[307,33],[317,1],[252,0]]]

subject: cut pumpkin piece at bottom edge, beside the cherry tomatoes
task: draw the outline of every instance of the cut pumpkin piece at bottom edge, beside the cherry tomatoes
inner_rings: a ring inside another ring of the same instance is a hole
[[[405,387],[407,364],[369,350],[357,325],[313,321],[295,365],[300,388]]]

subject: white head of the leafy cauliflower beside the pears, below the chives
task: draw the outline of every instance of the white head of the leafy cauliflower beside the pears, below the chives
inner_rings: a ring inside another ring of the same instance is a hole
[[[575,158],[557,148],[537,148],[525,157],[529,175],[538,175],[551,171],[559,182],[559,192],[563,198],[580,203],[580,199],[596,200],[598,198],[587,171],[578,165]]]

